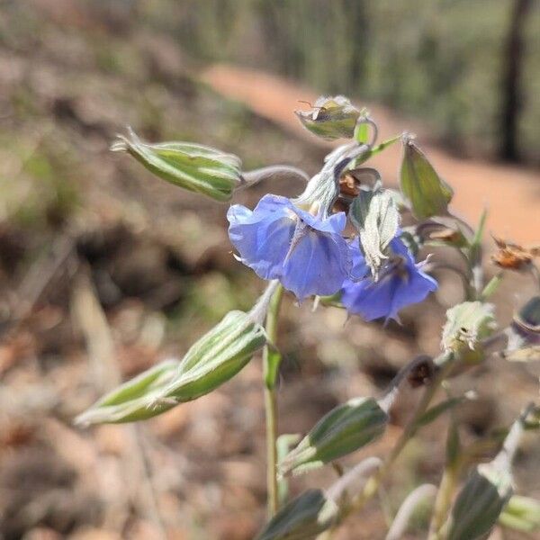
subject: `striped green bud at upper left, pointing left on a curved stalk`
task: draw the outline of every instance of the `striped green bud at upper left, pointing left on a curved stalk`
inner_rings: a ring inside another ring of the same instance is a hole
[[[229,201],[241,178],[239,157],[200,144],[148,144],[129,129],[128,137],[119,135],[111,149],[128,152],[159,178],[216,201]]]

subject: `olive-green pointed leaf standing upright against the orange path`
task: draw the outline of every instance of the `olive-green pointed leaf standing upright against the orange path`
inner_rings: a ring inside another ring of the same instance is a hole
[[[428,158],[410,136],[403,136],[401,191],[409,199],[411,210],[419,220],[445,215],[454,192],[429,163]]]

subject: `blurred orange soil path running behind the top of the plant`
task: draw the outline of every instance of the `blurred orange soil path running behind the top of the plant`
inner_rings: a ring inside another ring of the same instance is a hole
[[[302,129],[293,114],[302,108],[299,100],[313,103],[317,94],[301,85],[285,81],[257,70],[229,65],[214,65],[200,74],[203,82],[228,98],[245,103],[260,116],[274,121],[293,135],[309,139],[312,144],[331,148]],[[357,100],[356,100],[357,101]],[[364,104],[364,103],[363,103]],[[369,104],[379,126],[380,140],[403,130],[411,130],[410,121],[403,121],[387,109]],[[525,244],[540,243],[540,172],[520,166],[496,165],[450,155],[441,148],[423,144],[422,148],[437,171],[455,188],[455,210],[471,222],[476,222],[487,207],[490,211],[488,230]],[[400,145],[395,145],[375,157],[376,166],[389,183],[397,181],[401,159]]]

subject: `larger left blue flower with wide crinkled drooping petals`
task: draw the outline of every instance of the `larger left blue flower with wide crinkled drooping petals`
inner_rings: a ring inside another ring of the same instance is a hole
[[[349,274],[349,247],[340,234],[344,212],[313,216],[286,197],[268,194],[253,211],[234,204],[227,219],[240,260],[263,279],[279,279],[299,300],[337,293]]]

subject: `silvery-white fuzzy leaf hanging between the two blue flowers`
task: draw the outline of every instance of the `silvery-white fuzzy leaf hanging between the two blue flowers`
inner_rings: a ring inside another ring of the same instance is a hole
[[[351,204],[349,218],[360,236],[365,262],[376,276],[400,226],[400,213],[392,193],[384,189],[361,190]]]

